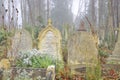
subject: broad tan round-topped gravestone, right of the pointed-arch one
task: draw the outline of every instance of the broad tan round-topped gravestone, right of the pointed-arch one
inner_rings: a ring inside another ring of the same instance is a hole
[[[68,41],[69,65],[95,65],[98,51],[94,37],[86,31],[78,31]]]

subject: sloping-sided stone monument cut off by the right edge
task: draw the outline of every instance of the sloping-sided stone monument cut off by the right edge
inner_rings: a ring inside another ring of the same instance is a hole
[[[108,64],[120,64],[120,32],[118,34],[118,41],[116,42],[112,55],[110,55],[109,58],[107,59],[107,63]]]

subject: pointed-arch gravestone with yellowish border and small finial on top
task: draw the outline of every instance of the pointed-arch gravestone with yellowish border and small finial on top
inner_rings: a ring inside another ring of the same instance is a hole
[[[38,48],[42,54],[48,54],[54,58],[62,59],[61,34],[58,29],[52,26],[50,19],[47,27],[39,33],[38,39]]]

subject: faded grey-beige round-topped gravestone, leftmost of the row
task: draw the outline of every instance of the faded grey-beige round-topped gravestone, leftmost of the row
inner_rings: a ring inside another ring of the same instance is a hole
[[[12,40],[12,52],[9,56],[17,56],[18,52],[32,49],[32,38],[25,29],[15,33]]]

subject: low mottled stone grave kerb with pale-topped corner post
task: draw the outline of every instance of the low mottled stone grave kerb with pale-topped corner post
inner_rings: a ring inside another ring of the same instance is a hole
[[[50,65],[48,66],[48,68],[11,67],[8,70],[2,71],[0,74],[0,80],[34,80],[34,79],[55,80],[54,65]]]

